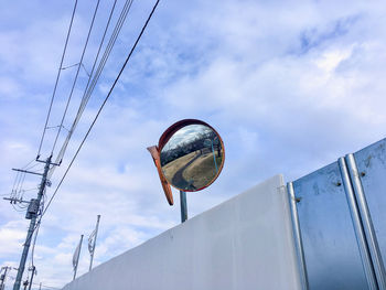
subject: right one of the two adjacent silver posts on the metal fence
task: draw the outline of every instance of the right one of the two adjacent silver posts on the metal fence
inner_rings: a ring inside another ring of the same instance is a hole
[[[347,154],[345,157],[345,161],[347,162],[349,174],[352,181],[357,206],[360,208],[362,225],[366,236],[367,246],[368,246],[368,250],[373,261],[375,276],[378,282],[378,288],[379,290],[386,290],[385,267],[382,261],[378,241],[376,239],[372,217],[369,215],[369,211],[367,207],[367,202],[366,202],[365,193],[362,187],[362,182],[360,179],[360,173],[356,167],[354,154]]]

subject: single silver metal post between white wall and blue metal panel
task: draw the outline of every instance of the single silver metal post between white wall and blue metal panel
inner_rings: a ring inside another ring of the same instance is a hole
[[[303,243],[301,240],[301,233],[300,233],[300,226],[299,226],[297,200],[294,196],[292,182],[287,183],[287,191],[288,191],[288,198],[289,198],[289,204],[290,204],[290,208],[291,208],[291,221],[292,221],[292,227],[293,227],[294,247],[297,250],[297,257],[298,257],[298,264],[299,264],[299,270],[300,270],[301,288],[303,290],[308,290],[309,289],[309,281],[308,281],[308,276],[307,276]]]

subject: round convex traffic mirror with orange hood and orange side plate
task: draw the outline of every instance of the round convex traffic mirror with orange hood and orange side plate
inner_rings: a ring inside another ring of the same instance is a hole
[[[169,127],[159,144],[148,148],[170,205],[170,185],[184,192],[201,191],[221,173],[225,153],[219,135],[210,125],[195,119],[181,120]]]

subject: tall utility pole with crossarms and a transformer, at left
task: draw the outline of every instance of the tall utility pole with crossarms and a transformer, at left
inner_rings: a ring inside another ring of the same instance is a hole
[[[28,219],[31,218],[31,222],[30,222],[29,232],[26,234],[26,238],[25,238],[25,243],[24,243],[23,254],[22,254],[21,259],[20,259],[20,266],[18,269],[17,279],[15,279],[14,284],[13,284],[13,290],[20,290],[21,279],[23,277],[25,261],[26,261],[26,257],[29,255],[32,235],[33,235],[33,232],[34,232],[35,225],[36,225],[36,218],[37,218],[37,214],[39,214],[40,203],[43,198],[45,185],[47,183],[47,174],[49,174],[50,165],[56,165],[56,164],[51,163],[51,159],[52,159],[52,155],[49,157],[46,161],[41,161],[41,162],[45,163],[44,172],[42,174],[42,181],[41,181],[40,186],[39,186],[37,198],[31,200],[31,203],[30,203],[26,216],[25,216],[25,218],[28,218]],[[21,171],[21,170],[17,170],[17,171]],[[26,172],[26,171],[24,170],[23,172]],[[26,172],[26,173],[31,173],[31,172]],[[34,173],[34,174],[36,174],[36,173]],[[37,174],[40,174],[40,173],[37,173]]]

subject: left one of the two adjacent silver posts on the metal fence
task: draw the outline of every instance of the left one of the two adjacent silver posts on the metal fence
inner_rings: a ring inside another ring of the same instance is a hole
[[[357,243],[358,248],[360,248],[362,265],[363,265],[363,268],[365,271],[367,284],[368,284],[369,289],[376,290],[378,288],[377,288],[377,282],[376,282],[376,278],[375,278],[375,273],[374,273],[373,262],[372,262],[371,254],[368,251],[367,241],[366,241],[365,233],[364,233],[364,229],[362,226],[361,215],[360,215],[360,212],[357,208],[357,204],[356,204],[355,195],[353,192],[352,183],[350,180],[346,162],[345,162],[344,158],[340,158],[337,160],[337,162],[339,162],[339,167],[341,170],[344,192],[346,194],[350,214],[351,214],[351,218],[353,221],[353,226],[354,226],[354,230],[355,230],[356,243]]]

